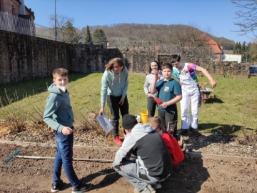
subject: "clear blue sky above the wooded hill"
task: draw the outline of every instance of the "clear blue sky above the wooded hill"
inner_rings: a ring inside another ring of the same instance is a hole
[[[235,42],[252,41],[252,35],[238,36],[236,7],[231,0],[24,0],[34,11],[35,24],[50,26],[49,16],[74,19],[78,29],[111,24],[185,24],[213,36]],[[241,10],[243,11],[243,10]]]

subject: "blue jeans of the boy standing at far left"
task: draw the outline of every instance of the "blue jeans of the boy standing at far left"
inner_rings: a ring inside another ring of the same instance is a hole
[[[56,157],[54,159],[53,184],[58,184],[61,179],[61,165],[64,165],[64,172],[73,187],[79,187],[79,179],[76,176],[72,165],[73,139],[74,134],[64,135],[54,131],[56,137]]]

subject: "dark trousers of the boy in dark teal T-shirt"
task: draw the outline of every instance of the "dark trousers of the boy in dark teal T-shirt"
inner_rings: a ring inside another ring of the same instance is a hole
[[[161,119],[161,127],[167,129],[168,122],[171,122],[174,126],[173,136],[176,137],[178,131],[177,121],[178,121],[178,109],[174,109],[173,112],[162,112],[158,109],[158,117]]]

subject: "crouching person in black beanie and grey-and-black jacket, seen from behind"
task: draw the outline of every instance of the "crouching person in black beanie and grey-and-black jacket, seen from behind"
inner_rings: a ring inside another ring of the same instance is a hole
[[[168,149],[149,124],[138,123],[131,114],[122,117],[122,127],[126,138],[116,152],[113,167],[135,187],[135,193],[155,193],[155,189],[161,188],[160,182],[171,174]],[[127,159],[131,154],[136,157],[136,162]]]

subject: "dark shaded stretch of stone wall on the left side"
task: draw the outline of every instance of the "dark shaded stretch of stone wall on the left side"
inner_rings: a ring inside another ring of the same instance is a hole
[[[104,65],[114,57],[122,57],[119,49],[66,44],[0,30],[0,84],[51,76],[57,67],[84,73],[104,71]]]

